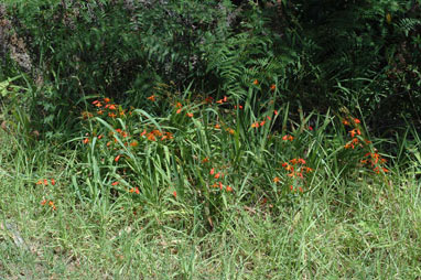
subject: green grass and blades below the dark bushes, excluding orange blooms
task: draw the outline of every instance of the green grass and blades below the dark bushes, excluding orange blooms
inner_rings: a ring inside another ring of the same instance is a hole
[[[291,119],[288,106],[259,109],[249,100],[244,110],[184,101],[176,114],[168,103],[160,115],[152,107],[120,119],[93,116],[78,137],[57,143],[34,141],[19,118],[8,120],[0,131],[1,278],[421,278],[417,133],[400,139],[401,159],[389,157],[381,168],[390,171],[376,174],[360,160],[381,140],[345,149],[353,127],[337,117]],[[251,128],[267,116],[272,125]],[[367,132],[358,128],[361,142]],[[148,140],[153,129],[173,138]],[[294,158],[313,169],[304,179],[282,166]],[[216,180],[213,168],[225,176]],[[44,179],[47,185],[36,184]],[[212,186],[218,182],[223,190]]]

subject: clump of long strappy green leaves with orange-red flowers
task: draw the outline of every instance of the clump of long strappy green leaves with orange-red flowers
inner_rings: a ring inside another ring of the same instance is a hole
[[[262,84],[250,86],[260,90]],[[333,170],[314,172],[312,168],[320,166],[317,161],[326,151],[337,151],[341,176],[345,170],[361,166],[375,173],[388,172],[386,161],[377,152],[369,152],[373,144],[364,138],[359,119],[342,118],[344,143],[339,137],[323,134],[333,119],[310,125],[311,116],[300,111],[298,125],[296,119],[288,118],[287,105],[274,109],[279,88],[273,84],[269,89],[270,99],[259,99],[259,106],[250,103],[252,96],[247,100],[225,95],[215,100],[202,96],[192,100],[171,95],[163,98],[156,91],[144,101],[149,104],[147,109],[165,108],[166,116],[160,117],[154,111],[126,109],[110,98],[98,98],[82,117],[89,123],[82,137],[86,161],[98,165],[95,170],[101,180],[97,184],[105,184],[114,195],[160,201],[165,194],[173,203],[199,197],[215,211],[222,204],[229,207],[228,197],[246,197],[242,192],[256,193],[258,200],[279,195],[299,198],[298,194],[310,191],[310,182]],[[280,111],[284,112],[282,123],[277,122]],[[272,189],[261,185],[262,181],[268,183],[267,179]]]

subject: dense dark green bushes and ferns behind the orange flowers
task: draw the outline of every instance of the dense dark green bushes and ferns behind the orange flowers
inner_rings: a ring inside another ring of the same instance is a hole
[[[404,118],[420,125],[418,1],[12,1],[8,8],[32,75],[41,72],[35,98],[51,123],[66,121],[73,106],[98,93],[142,105],[162,83],[241,99],[258,79],[267,88],[277,84],[280,103],[306,111],[345,106],[382,132]]]

